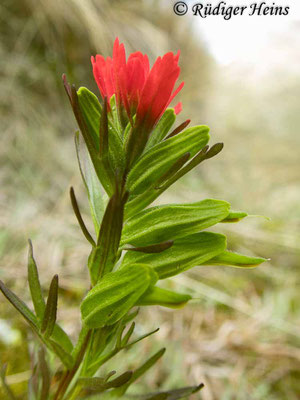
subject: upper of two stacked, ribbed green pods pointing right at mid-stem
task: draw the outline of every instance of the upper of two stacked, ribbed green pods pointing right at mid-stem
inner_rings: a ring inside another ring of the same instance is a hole
[[[121,246],[147,246],[199,232],[224,220],[229,208],[226,201],[213,199],[148,208],[126,222]]]

